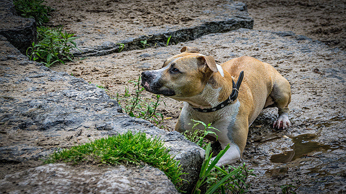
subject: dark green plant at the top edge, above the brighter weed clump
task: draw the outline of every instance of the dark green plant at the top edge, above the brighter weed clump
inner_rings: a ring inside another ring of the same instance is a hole
[[[43,5],[44,0],[14,0],[17,13],[24,18],[34,18],[38,26],[49,21],[49,6]]]

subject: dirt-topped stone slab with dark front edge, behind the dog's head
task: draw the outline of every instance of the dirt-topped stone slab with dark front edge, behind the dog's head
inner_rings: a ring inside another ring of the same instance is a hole
[[[140,41],[144,40],[146,48],[166,46],[170,36],[170,44],[176,44],[209,33],[252,29],[254,23],[246,4],[232,0],[100,1],[92,7],[78,0],[69,1],[69,6],[47,0],[47,4],[56,8],[52,24],[63,24],[80,37],[76,40],[80,51],[74,53],[77,57],[143,48]],[[69,13],[75,11],[79,14]]]

